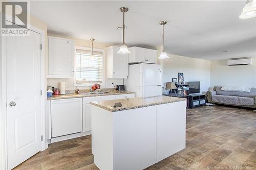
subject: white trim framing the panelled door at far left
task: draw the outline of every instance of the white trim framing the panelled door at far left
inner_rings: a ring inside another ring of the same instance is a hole
[[[46,101],[46,89],[45,89],[45,31],[34,26],[28,27],[31,31],[37,32],[41,35],[41,151],[44,151],[46,146],[45,140],[45,101]],[[0,169],[7,169],[7,110],[6,110],[6,36],[1,36],[1,80],[0,80],[0,93],[1,93],[1,112],[0,112]]]

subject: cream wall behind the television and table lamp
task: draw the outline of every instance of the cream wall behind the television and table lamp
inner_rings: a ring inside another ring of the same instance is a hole
[[[210,61],[168,54],[163,60],[163,85],[178,79],[178,72],[183,72],[184,81],[200,81],[200,92],[205,93],[210,87]]]

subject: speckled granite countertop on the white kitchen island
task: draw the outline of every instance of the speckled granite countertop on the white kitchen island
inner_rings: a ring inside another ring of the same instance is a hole
[[[161,96],[155,96],[151,98],[130,98],[130,99],[119,99],[119,100],[111,100],[111,101],[91,102],[91,104],[94,106],[98,106],[102,109],[115,112],[115,111],[129,110],[129,109],[161,105],[166,103],[174,103],[174,102],[180,102],[180,101],[186,101],[186,99],[161,95]],[[122,103],[122,107],[117,107],[117,108],[112,107],[115,103],[118,103],[118,102]]]

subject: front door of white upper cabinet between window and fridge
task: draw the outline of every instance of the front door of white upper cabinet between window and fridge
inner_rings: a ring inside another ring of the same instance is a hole
[[[119,47],[113,46],[113,78],[127,79],[129,75],[129,55],[118,54]]]

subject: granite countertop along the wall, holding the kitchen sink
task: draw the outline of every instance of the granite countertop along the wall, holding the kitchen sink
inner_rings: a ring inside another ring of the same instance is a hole
[[[53,95],[51,98],[47,98],[47,100],[56,100],[56,99],[70,99],[70,98],[84,98],[84,97],[93,97],[93,96],[102,96],[102,95],[116,95],[116,94],[131,94],[134,92],[131,91],[111,91],[110,93],[104,94],[60,94]]]

